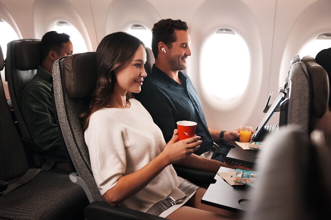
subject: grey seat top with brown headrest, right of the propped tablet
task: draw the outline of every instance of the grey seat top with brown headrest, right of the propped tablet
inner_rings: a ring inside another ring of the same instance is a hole
[[[291,63],[287,123],[303,131],[313,130],[312,118],[321,117],[326,111],[328,91],[327,73],[313,57]]]

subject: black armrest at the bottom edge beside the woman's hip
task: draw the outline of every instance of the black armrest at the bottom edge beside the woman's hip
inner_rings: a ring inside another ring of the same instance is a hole
[[[165,220],[153,214],[137,211],[121,206],[110,206],[105,201],[93,201],[84,209],[84,216],[87,220]]]

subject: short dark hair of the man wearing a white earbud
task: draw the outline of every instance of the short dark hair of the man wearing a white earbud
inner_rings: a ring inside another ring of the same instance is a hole
[[[152,27],[152,43],[151,49],[153,51],[154,57],[157,58],[157,44],[162,41],[170,48],[172,43],[177,40],[175,30],[188,30],[188,25],[185,21],[180,19],[162,19],[154,23]]]

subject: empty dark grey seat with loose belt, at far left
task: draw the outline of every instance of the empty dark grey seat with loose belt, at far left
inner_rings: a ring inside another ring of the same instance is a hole
[[[0,47],[0,69],[4,58]],[[83,219],[88,204],[84,190],[70,181],[67,173],[29,169],[25,150],[12,120],[0,78],[0,219]],[[38,173],[19,183],[27,171]]]

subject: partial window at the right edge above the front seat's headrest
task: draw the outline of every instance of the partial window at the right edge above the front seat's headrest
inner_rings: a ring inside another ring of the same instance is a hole
[[[331,47],[331,33],[321,33],[316,39],[309,40],[300,49],[298,55],[300,57],[311,55],[313,57],[322,50]]]

